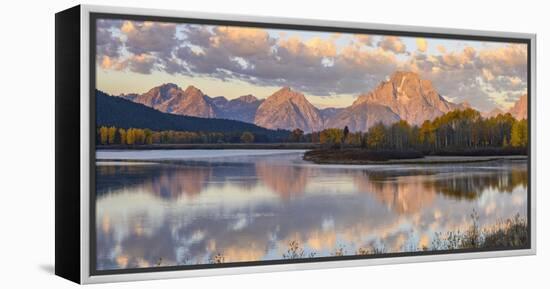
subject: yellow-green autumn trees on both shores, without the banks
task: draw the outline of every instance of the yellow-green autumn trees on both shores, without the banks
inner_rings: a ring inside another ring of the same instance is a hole
[[[374,150],[477,150],[526,148],[529,142],[527,120],[517,120],[509,113],[483,118],[473,109],[455,110],[420,126],[404,120],[391,125],[377,123],[367,132],[351,132],[346,128],[327,128],[304,134],[290,132],[287,142],[320,143],[328,148],[361,147]],[[102,145],[254,143],[263,142],[250,131],[191,132],[152,131],[141,128],[102,126],[97,130],[97,143]]]

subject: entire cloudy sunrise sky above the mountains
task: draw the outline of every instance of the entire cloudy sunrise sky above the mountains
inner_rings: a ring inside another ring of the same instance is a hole
[[[346,107],[395,71],[480,111],[527,93],[526,44],[117,19],[96,29],[96,87],[113,95],[170,82],[266,98],[289,86],[319,108]]]

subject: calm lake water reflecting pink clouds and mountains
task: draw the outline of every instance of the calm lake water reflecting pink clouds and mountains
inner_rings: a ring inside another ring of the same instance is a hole
[[[98,269],[281,259],[290,241],[316,256],[402,252],[467,228],[474,209],[481,226],[526,216],[524,161],[341,166],[302,153],[98,152]]]

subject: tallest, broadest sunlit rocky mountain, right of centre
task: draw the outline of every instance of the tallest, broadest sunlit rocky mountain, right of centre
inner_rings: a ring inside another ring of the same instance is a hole
[[[389,107],[401,119],[413,125],[421,125],[426,119],[434,119],[467,106],[445,100],[431,81],[420,79],[414,72],[402,71],[395,72],[373,91],[360,95],[352,106],[361,103]]]

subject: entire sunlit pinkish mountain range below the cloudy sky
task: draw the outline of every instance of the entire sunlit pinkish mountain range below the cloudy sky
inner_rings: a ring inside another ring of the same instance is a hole
[[[237,120],[268,129],[299,128],[304,132],[344,126],[351,131],[366,131],[376,123],[391,124],[399,120],[420,125],[449,111],[470,107],[468,103],[446,100],[431,81],[405,71],[393,73],[388,80],[359,95],[352,105],[345,108],[319,109],[304,94],[290,87],[283,87],[266,99],[244,95],[228,100],[224,96],[205,95],[192,85],[182,89],[167,83],[143,94],[120,97],[165,113]],[[518,119],[526,118],[527,96],[522,96],[508,112]],[[495,109],[484,116],[499,113],[503,111]]]

